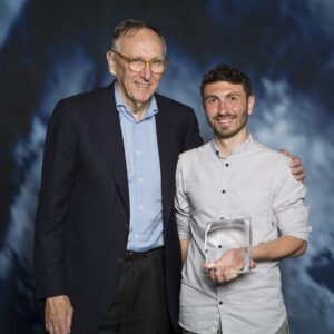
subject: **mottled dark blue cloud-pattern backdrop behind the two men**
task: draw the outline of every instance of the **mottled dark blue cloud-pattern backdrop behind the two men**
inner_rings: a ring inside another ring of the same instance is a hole
[[[250,131],[301,156],[307,173],[308,249],[282,264],[292,333],[334,333],[334,2],[165,2],[0,1],[0,333],[42,333],[31,258],[47,121],[60,98],[112,80],[108,38],[127,18],[165,35],[159,92],[194,107],[206,140],[203,73],[225,62],[250,76]]]

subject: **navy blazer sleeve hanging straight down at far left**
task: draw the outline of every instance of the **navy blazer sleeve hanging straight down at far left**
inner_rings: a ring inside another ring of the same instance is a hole
[[[72,115],[60,101],[48,125],[36,217],[33,264],[38,299],[66,294],[65,225],[76,170],[76,141]]]

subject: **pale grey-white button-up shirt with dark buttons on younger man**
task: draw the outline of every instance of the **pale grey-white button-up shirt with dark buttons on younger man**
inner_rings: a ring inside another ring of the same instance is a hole
[[[288,235],[307,240],[306,189],[289,159],[252,136],[223,158],[214,140],[179,157],[176,218],[180,239],[190,239],[183,268],[180,325],[195,333],[276,333],[286,310],[277,262],[262,262],[249,274],[215,284],[202,267],[206,223],[249,217],[253,245]]]

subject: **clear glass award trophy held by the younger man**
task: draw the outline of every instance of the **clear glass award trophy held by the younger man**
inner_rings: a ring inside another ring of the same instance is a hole
[[[214,263],[232,248],[246,247],[244,266],[232,271],[232,274],[246,274],[250,272],[252,258],[252,225],[250,218],[220,219],[208,222],[204,236],[205,262]],[[227,264],[233,266],[233,264]],[[214,266],[212,269],[216,269]]]

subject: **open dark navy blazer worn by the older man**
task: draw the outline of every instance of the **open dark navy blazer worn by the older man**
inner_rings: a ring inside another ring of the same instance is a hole
[[[178,155],[199,146],[191,108],[155,95],[167,303],[178,328],[180,249],[174,215]],[[97,332],[116,294],[129,232],[127,167],[114,84],[61,100],[50,118],[36,219],[37,298],[67,294],[71,333]]]

